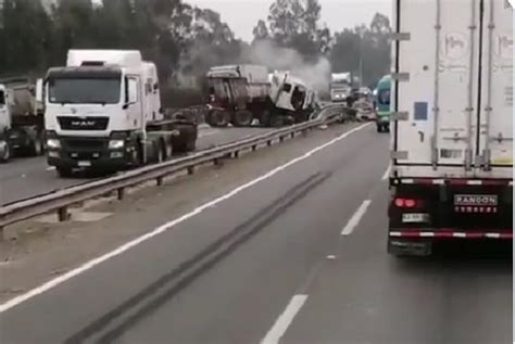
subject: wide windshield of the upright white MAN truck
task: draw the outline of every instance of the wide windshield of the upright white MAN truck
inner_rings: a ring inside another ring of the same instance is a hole
[[[118,78],[55,78],[49,84],[50,103],[117,104],[120,95]]]

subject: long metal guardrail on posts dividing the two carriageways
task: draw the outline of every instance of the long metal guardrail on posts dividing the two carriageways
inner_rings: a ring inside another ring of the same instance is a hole
[[[0,231],[5,226],[50,212],[56,212],[60,221],[67,220],[70,219],[68,207],[74,204],[112,192],[116,192],[117,199],[123,200],[126,188],[135,187],[150,180],[155,180],[156,184],[161,186],[167,176],[185,170],[187,170],[189,175],[192,175],[197,166],[206,163],[217,165],[224,158],[231,156],[238,157],[240,151],[249,149],[255,151],[259,145],[272,145],[275,140],[282,142],[287,137],[293,138],[299,132],[306,132],[322,124],[336,122],[338,115],[341,114],[340,110],[340,105],[329,105],[319,111],[319,116],[317,116],[316,119],[310,122],[250,137],[214,149],[208,149],[169,162],[145,166],[114,177],[74,186],[50,194],[2,206],[0,207]]]

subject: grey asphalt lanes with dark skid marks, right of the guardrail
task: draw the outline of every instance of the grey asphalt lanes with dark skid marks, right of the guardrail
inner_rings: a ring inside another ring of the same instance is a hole
[[[319,135],[296,139],[297,158],[1,306],[0,342],[510,343],[511,246],[389,256],[388,136],[372,125]]]

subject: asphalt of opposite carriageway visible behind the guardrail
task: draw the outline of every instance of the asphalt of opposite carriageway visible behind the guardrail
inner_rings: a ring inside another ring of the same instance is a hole
[[[223,144],[247,136],[266,132],[265,128],[203,128],[199,130],[197,149]],[[58,178],[55,169],[47,165],[45,157],[15,158],[0,168],[0,205],[34,198],[59,189],[91,181],[91,177]]]

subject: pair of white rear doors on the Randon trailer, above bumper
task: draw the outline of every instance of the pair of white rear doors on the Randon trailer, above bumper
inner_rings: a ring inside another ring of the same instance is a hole
[[[395,170],[404,176],[474,176],[487,148],[494,166],[511,166],[511,9],[503,0],[394,1]],[[494,142],[492,136],[500,132],[504,139]]]

